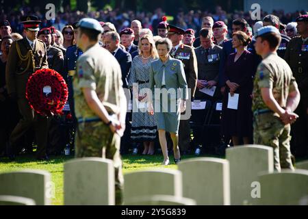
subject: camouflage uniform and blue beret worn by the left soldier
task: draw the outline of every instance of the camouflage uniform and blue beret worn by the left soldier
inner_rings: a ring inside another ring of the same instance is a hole
[[[77,25],[101,29],[99,22],[92,18],[81,19]],[[118,116],[127,104],[122,86],[120,65],[99,43],[78,58],[77,75],[74,77],[75,113],[79,123],[75,157],[104,157],[114,161],[117,205],[122,203],[123,191],[120,136],[112,133],[110,126],[90,109],[82,88],[94,90],[108,114]]]

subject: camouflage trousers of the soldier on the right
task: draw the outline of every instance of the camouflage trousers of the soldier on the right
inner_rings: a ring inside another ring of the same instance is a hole
[[[290,130],[290,124],[284,125],[280,118],[271,112],[254,116],[253,142],[273,148],[275,170],[294,170],[290,151]]]

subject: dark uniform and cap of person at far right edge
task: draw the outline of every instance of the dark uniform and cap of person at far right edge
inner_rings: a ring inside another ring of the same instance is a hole
[[[308,15],[300,16],[296,21],[308,22]],[[292,125],[292,152],[298,157],[305,157],[308,155],[308,38],[292,38],[285,61],[290,65],[300,91],[300,102],[295,110],[299,117]]]

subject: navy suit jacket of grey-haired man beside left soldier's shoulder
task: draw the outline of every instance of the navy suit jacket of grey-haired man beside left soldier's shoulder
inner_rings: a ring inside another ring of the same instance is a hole
[[[123,88],[128,88],[129,70],[131,69],[131,54],[123,49],[118,49],[114,55],[118,64],[120,64],[122,72]]]

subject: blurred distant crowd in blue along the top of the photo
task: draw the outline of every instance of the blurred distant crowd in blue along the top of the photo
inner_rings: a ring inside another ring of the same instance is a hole
[[[278,16],[281,23],[285,25],[295,21],[300,14],[304,13],[304,10],[298,10],[293,13],[286,13],[283,10],[274,10],[272,12],[272,14]],[[162,10],[162,8],[157,8],[154,12],[134,12],[131,10],[126,10],[123,12],[118,8],[106,8],[105,10],[98,10],[97,12],[91,11],[85,13],[77,10],[70,10],[70,8],[67,7],[64,8],[63,12],[60,10],[57,11],[54,20],[47,20],[44,18],[44,14],[40,11],[40,8],[30,8],[25,5],[18,11],[8,10],[7,12],[3,10],[0,15],[0,21],[10,21],[13,31],[21,33],[23,31],[23,25],[21,25],[20,21],[21,17],[25,14],[35,14],[41,18],[41,28],[50,27],[52,25],[56,29],[62,30],[67,24],[72,24],[75,21],[79,21],[81,18],[91,17],[97,19],[98,21],[113,23],[116,27],[116,31],[118,32],[125,27],[130,27],[131,21],[138,20],[142,23],[142,27],[151,29],[154,34],[157,34],[156,27],[162,16],[168,15],[164,12],[164,10]],[[266,15],[268,15],[268,12],[261,10],[261,17]],[[223,21],[227,27],[229,27],[229,33],[231,33],[231,23],[236,18],[244,18],[251,27],[255,24],[255,21],[251,18],[251,12],[244,12],[240,10],[226,12],[222,10],[219,5],[216,6],[214,12],[211,10],[190,10],[188,12],[183,12],[183,10],[180,9],[176,14],[172,15],[172,23],[182,29],[194,29],[196,35],[198,35],[198,31],[201,29],[202,18],[205,16],[211,16],[215,22]],[[231,37],[231,35],[229,37]]]

